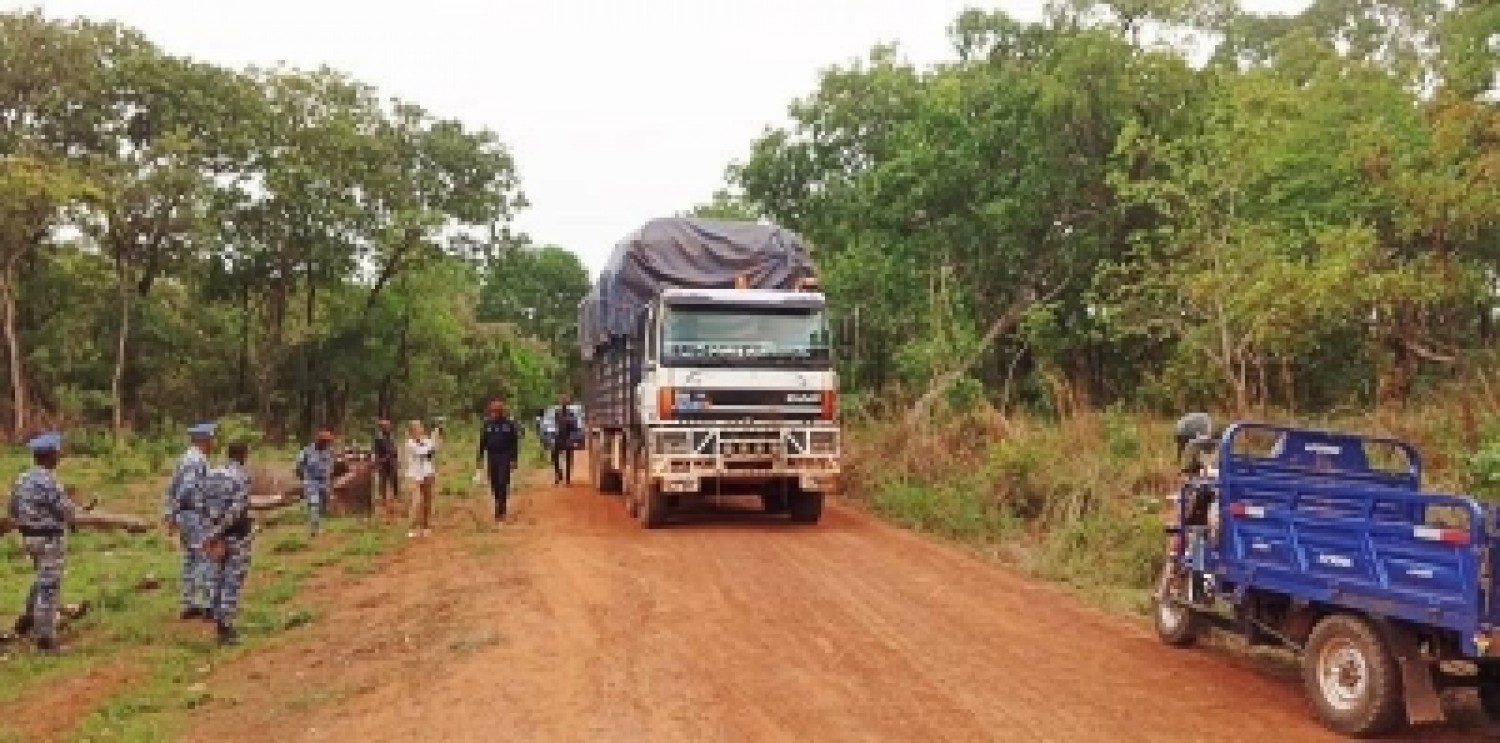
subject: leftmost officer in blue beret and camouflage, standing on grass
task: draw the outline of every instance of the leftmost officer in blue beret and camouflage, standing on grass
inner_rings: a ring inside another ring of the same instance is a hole
[[[33,633],[36,648],[57,653],[57,611],[63,593],[63,534],[72,525],[78,509],[54,471],[62,459],[63,437],[42,434],[27,441],[32,468],[16,477],[10,488],[8,513],[21,531],[21,545],[32,555],[36,578],[26,596],[26,614],[15,623],[16,635]]]

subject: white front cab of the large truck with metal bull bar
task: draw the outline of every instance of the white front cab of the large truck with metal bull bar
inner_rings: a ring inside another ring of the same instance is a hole
[[[824,296],[668,290],[652,303],[638,416],[642,492],[742,492],[816,521],[838,476],[838,380]],[[806,510],[804,510],[806,509]]]

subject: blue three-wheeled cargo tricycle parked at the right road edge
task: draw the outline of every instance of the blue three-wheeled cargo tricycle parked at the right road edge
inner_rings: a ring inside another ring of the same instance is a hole
[[[1197,453],[1166,525],[1164,642],[1218,626],[1293,650],[1347,735],[1442,720],[1446,686],[1500,713],[1492,507],[1424,491],[1394,438],[1242,422]]]

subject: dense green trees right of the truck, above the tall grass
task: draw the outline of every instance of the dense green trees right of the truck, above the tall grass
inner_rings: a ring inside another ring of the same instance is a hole
[[[825,71],[698,210],[814,245],[850,390],[1306,411],[1491,356],[1500,5],[1074,0],[950,35],[930,69]]]

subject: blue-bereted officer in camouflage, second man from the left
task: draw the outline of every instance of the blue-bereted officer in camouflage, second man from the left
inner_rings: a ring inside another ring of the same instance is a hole
[[[190,444],[177,461],[172,480],[162,495],[162,521],[168,533],[177,534],[183,551],[182,618],[208,618],[208,563],[198,549],[202,522],[198,516],[198,486],[208,476],[208,455],[213,453],[216,423],[198,423],[188,429]]]

